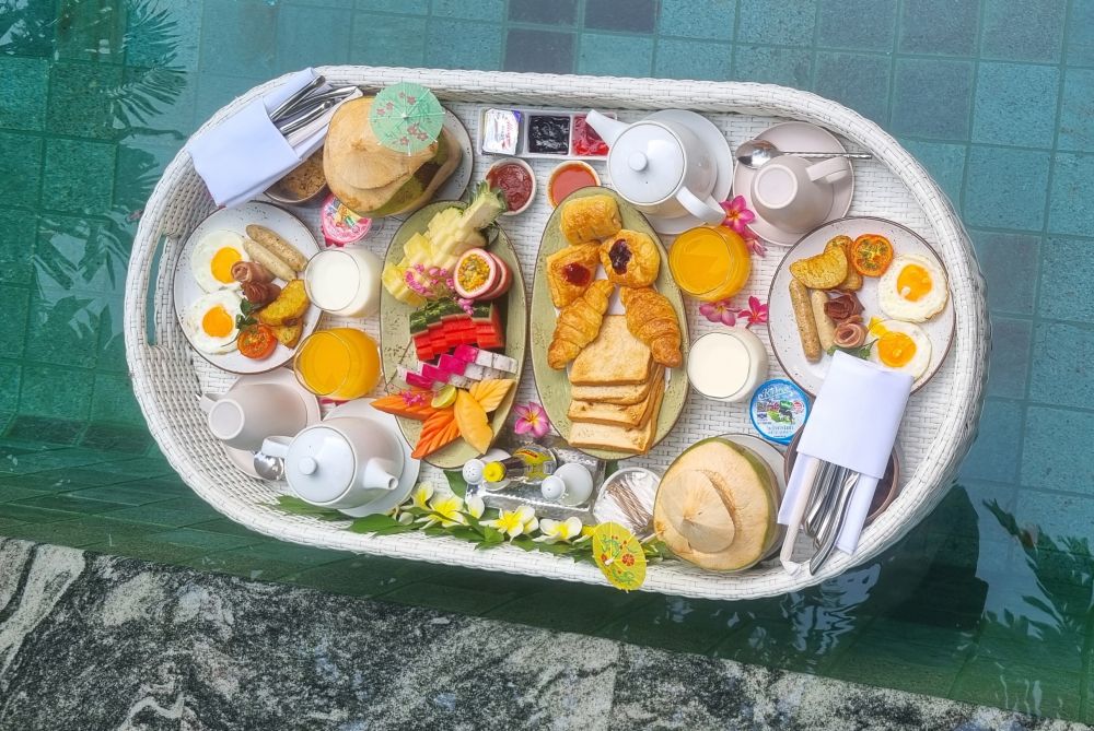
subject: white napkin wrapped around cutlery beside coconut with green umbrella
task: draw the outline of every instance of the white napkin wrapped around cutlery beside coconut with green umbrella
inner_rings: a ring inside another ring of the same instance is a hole
[[[281,123],[284,131],[279,129],[271,117],[282,119],[275,113],[283,115],[286,102],[305,90],[309,91],[307,99],[330,91],[325,82],[317,84],[318,79],[312,69],[298,71],[277,89],[252,101],[186,144],[194,168],[218,205],[232,208],[245,203],[298,167],[323,144],[335,109],[361,96],[360,90],[347,92],[345,96],[327,95],[302,109],[322,108],[322,111],[295,119],[284,118],[291,126]],[[309,90],[310,86],[314,89]]]

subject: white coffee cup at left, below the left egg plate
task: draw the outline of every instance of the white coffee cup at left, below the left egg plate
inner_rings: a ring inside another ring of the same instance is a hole
[[[307,410],[291,389],[277,384],[238,384],[228,393],[202,393],[201,411],[212,435],[235,449],[256,450],[274,434],[295,434]]]

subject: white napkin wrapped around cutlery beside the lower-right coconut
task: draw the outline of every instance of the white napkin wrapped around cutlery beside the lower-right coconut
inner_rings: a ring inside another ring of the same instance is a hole
[[[837,352],[833,356],[828,375],[802,431],[798,460],[779,508],[779,522],[789,527],[780,559],[790,573],[802,568],[791,555],[811,494],[822,486],[819,477],[824,475],[841,474],[841,485],[849,485],[847,488],[851,492],[849,499],[843,500],[842,520],[828,524],[838,531],[834,535],[835,547],[848,554],[854,552],[874,488],[885,474],[896,444],[912,381],[906,374],[884,370],[847,353]],[[857,479],[852,479],[856,474]],[[811,570],[816,568],[814,565]]]

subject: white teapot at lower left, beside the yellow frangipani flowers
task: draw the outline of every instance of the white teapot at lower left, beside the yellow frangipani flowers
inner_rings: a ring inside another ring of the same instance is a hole
[[[398,488],[403,449],[395,435],[366,418],[327,418],[295,437],[268,437],[263,452],[284,460],[289,488],[302,500],[368,515],[370,503]],[[389,509],[387,507],[386,509]]]

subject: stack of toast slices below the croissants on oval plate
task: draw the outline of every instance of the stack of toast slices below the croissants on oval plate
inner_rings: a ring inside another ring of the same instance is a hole
[[[664,366],[627,329],[622,315],[607,315],[596,340],[570,368],[574,447],[641,455],[649,451],[665,392]]]

